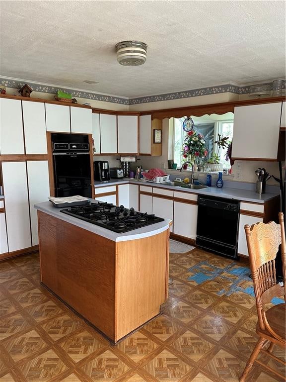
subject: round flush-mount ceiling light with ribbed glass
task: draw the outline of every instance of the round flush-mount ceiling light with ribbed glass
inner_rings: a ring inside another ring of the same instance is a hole
[[[147,59],[147,44],[141,41],[121,41],[116,44],[116,52],[120,65],[142,65]]]

